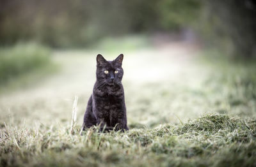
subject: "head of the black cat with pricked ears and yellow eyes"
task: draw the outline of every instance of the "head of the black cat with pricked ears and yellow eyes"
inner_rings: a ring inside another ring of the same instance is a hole
[[[113,61],[106,61],[100,54],[97,55],[97,81],[109,86],[119,85],[122,81],[124,71],[122,68],[124,55],[120,54]]]

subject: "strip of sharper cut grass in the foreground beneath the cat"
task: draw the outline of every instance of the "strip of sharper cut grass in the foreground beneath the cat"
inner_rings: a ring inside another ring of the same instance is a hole
[[[255,120],[208,114],[126,133],[1,125],[2,166],[255,166]]]

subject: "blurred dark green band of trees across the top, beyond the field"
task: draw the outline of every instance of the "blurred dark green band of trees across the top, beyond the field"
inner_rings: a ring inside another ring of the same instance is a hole
[[[0,44],[84,47],[104,36],[193,28],[205,43],[253,57],[255,0],[1,0]]]

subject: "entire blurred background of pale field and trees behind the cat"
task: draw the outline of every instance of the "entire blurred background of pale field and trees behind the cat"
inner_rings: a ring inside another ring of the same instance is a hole
[[[255,117],[255,16],[253,0],[1,0],[1,122],[68,124],[79,96],[81,124],[95,56],[121,53],[131,127]]]

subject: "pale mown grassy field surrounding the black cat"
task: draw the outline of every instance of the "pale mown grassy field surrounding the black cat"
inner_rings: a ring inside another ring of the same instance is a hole
[[[124,47],[130,130],[79,135],[99,53],[120,54],[56,50],[58,73],[1,94],[0,166],[256,166],[255,61],[182,42]]]

